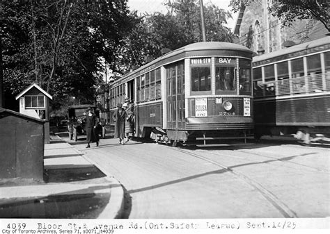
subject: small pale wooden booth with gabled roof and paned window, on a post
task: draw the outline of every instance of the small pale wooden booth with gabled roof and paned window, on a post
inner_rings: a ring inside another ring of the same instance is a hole
[[[45,144],[49,144],[49,99],[53,97],[45,90],[32,83],[29,87],[19,93],[19,112],[33,118],[45,120]]]

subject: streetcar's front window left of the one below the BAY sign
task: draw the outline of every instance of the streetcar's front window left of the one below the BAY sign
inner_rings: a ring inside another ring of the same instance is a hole
[[[191,67],[191,91],[211,90],[211,67]]]

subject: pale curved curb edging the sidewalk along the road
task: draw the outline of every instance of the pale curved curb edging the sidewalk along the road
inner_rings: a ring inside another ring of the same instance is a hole
[[[63,140],[61,137],[56,135],[59,139]],[[65,140],[63,140],[65,142]],[[68,142],[65,142],[65,144],[68,144],[74,151],[76,151],[79,156],[82,156],[85,160],[90,162],[91,164],[95,165],[100,171],[107,175],[107,171],[97,162],[94,162],[93,160],[87,158],[84,153],[79,151],[78,149],[75,149],[72,147],[71,144]],[[120,219],[123,215],[123,209],[124,209],[124,189],[120,182],[116,180],[113,176],[106,176],[105,179],[111,183],[111,192],[110,192],[110,199],[107,206],[104,208],[104,210],[101,212],[101,214],[97,217],[99,219]]]

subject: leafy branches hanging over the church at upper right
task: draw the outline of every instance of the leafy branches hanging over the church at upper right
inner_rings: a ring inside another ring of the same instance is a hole
[[[253,0],[230,0],[234,12],[242,6],[249,6]],[[268,8],[269,13],[278,17],[283,26],[290,26],[294,19],[317,19],[330,31],[329,1],[327,0],[274,0]]]

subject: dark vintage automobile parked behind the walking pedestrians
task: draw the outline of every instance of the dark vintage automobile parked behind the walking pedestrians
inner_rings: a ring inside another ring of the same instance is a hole
[[[70,140],[77,142],[79,135],[86,135],[86,115],[88,113],[88,108],[93,108],[95,115],[100,119],[100,112],[94,105],[74,105],[68,107],[68,133]],[[97,124],[97,131],[104,137],[105,131],[104,126],[101,122]]]

